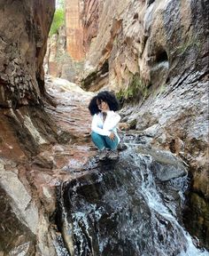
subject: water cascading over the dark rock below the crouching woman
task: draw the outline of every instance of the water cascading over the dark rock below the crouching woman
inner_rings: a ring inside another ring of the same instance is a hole
[[[160,181],[160,164],[133,145],[95,166],[61,188],[58,226],[69,255],[209,255],[182,225],[187,176]]]

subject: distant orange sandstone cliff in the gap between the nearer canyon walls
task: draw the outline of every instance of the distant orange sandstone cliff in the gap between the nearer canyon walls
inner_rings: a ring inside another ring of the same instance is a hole
[[[47,74],[81,83],[86,52],[97,36],[98,6],[97,1],[65,1],[66,24],[48,39]]]

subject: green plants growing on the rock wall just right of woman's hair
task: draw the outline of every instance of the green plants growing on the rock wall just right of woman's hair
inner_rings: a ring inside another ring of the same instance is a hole
[[[130,84],[126,90],[120,90],[117,93],[117,98],[120,102],[124,101],[136,101],[143,98],[146,99],[148,96],[148,89],[145,83],[143,83],[138,73],[132,77]]]

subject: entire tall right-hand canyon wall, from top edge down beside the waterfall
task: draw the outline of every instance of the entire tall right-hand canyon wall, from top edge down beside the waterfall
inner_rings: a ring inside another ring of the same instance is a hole
[[[96,5],[84,8],[82,87],[118,92],[124,120],[190,166],[185,223],[209,248],[208,1],[88,2]]]

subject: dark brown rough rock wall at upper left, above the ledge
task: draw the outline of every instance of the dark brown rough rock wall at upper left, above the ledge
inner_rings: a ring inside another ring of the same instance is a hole
[[[0,106],[4,108],[39,103],[44,92],[43,57],[53,3],[0,3]]]

